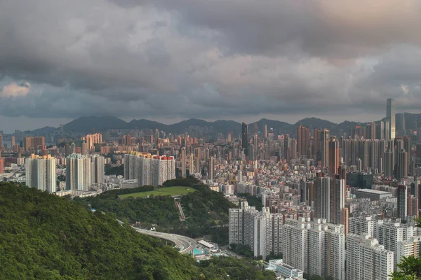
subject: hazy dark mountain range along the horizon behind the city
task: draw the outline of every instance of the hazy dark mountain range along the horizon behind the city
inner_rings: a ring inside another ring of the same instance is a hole
[[[406,130],[413,129],[416,123],[421,125],[421,113],[404,113],[405,114],[405,123]],[[378,121],[378,120],[377,120]],[[299,120],[295,124],[285,123],[279,120],[268,120],[262,118],[255,123],[248,124],[249,132],[254,132],[255,126],[257,125],[258,130],[262,131],[264,125],[267,125],[268,132],[272,129],[275,133],[285,134],[285,133],[295,133],[296,127],[298,125],[304,125],[310,129],[314,128],[327,128],[332,134],[340,134],[341,131],[349,132],[352,127],[356,125],[366,125],[366,123],[357,123],[346,120],[342,123],[332,123],[328,120],[323,120],[320,118],[304,118]],[[81,132],[81,133],[91,133],[91,132],[105,132],[107,130],[119,129],[119,130],[155,130],[158,129],[164,132],[171,133],[183,133],[187,132],[189,129],[194,129],[196,127],[208,127],[210,133],[215,132],[234,132],[236,134],[241,133],[241,123],[235,122],[234,120],[216,120],[215,122],[208,122],[206,120],[200,120],[191,118],[189,120],[183,120],[180,123],[174,123],[172,125],[165,125],[163,123],[158,123],[153,120],[131,120],[126,122],[116,117],[112,116],[83,116],[81,118],[76,118],[70,123],[67,123],[63,126],[64,132]],[[44,134],[58,130],[59,128],[54,127],[43,127],[38,130],[34,130],[31,134]]]

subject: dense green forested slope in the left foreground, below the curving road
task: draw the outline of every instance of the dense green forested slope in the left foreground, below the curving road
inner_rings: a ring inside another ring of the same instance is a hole
[[[14,183],[0,183],[0,263],[0,279],[275,279],[253,260],[197,264],[114,215]]]

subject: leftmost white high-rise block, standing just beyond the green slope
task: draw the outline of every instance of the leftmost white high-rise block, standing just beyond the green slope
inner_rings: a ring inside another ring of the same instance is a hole
[[[31,155],[25,160],[26,185],[54,193],[57,190],[55,174],[57,162],[51,155]]]

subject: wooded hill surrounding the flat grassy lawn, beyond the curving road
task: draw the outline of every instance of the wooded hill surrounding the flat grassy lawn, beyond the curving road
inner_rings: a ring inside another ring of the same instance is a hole
[[[95,209],[114,213],[116,217],[129,223],[139,222],[144,228],[156,227],[156,230],[173,232],[189,237],[211,235],[219,244],[228,243],[228,209],[235,207],[221,193],[203,186],[197,179],[175,179],[163,183],[163,187],[187,186],[196,192],[183,195],[180,199],[186,216],[180,221],[178,209],[173,197],[151,196],[149,198],[128,197],[119,200],[118,195],[138,193],[142,188],[110,190],[96,197],[86,197],[75,201],[91,204]]]

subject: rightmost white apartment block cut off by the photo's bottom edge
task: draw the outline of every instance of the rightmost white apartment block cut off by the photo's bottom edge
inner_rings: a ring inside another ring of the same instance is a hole
[[[347,235],[347,280],[392,279],[394,253],[370,235]]]

